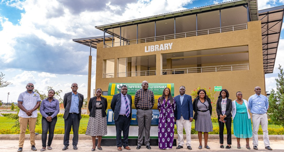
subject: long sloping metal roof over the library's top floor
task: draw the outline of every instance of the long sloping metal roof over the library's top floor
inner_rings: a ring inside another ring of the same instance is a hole
[[[144,17],[144,18],[139,18],[139,19],[123,21],[123,22],[116,22],[112,24],[95,26],[95,28],[104,30],[107,28],[132,25],[132,24],[141,23],[141,22],[149,22],[149,21],[157,20],[157,19],[166,19],[166,18],[170,18],[173,16],[182,16],[186,14],[193,14],[193,13],[198,13],[198,12],[203,12],[203,11],[208,11],[208,10],[213,10],[213,9],[221,9],[221,8],[228,7],[228,6],[235,6],[235,5],[246,4],[246,3],[248,3],[249,5],[251,21],[257,21],[258,20],[257,0],[234,0],[234,1],[223,2],[219,4],[202,6],[202,7],[193,8],[193,9],[186,9],[182,11],[160,14],[156,16],[149,16],[149,17]]]

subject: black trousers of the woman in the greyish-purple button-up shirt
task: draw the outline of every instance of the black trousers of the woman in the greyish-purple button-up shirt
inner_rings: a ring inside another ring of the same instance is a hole
[[[53,113],[46,113],[48,116],[51,116]],[[54,135],[54,128],[57,122],[57,116],[51,119],[51,122],[48,122],[46,118],[42,117],[41,119],[41,127],[43,130],[43,133],[41,135],[41,141],[43,143],[43,147],[46,147],[46,138],[47,138],[47,132],[48,133],[48,141],[47,146],[50,146],[53,140]]]

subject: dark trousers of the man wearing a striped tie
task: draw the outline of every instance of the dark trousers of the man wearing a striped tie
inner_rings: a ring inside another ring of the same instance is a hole
[[[119,115],[118,119],[115,121],[116,146],[117,147],[122,147],[121,131],[123,132],[123,147],[128,146],[128,133],[129,133],[129,126],[130,126],[129,117]]]

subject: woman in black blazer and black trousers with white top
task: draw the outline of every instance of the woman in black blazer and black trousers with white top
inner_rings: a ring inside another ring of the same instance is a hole
[[[218,115],[218,123],[219,123],[219,138],[220,138],[220,148],[224,148],[224,125],[226,125],[227,129],[227,146],[226,149],[231,148],[232,144],[232,100],[229,99],[229,92],[226,89],[222,89],[220,95],[218,97],[216,111]],[[224,121],[226,121],[224,123]]]

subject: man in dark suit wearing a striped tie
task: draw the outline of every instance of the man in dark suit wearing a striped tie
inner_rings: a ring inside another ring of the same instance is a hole
[[[130,150],[128,147],[128,132],[132,118],[132,97],[127,94],[126,85],[121,86],[121,93],[112,97],[111,110],[114,112],[117,149],[122,150],[121,131],[123,131],[123,147]]]

